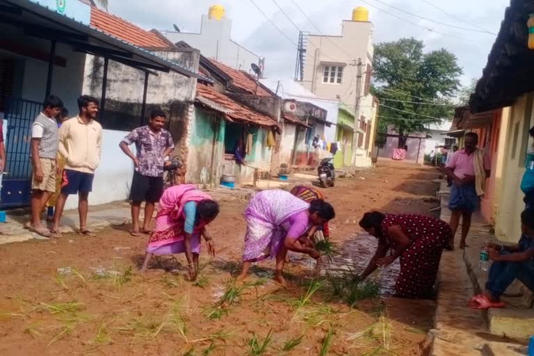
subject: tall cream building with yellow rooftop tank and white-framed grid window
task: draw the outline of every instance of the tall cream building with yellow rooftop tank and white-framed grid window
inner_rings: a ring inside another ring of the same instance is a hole
[[[318,97],[339,100],[353,110],[358,101],[355,133],[364,135],[364,140],[372,137],[376,120],[373,96],[369,94],[374,52],[369,11],[355,8],[352,20],[343,20],[341,35],[306,35],[305,47],[302,86]],[[357,140],[359,135],[354,137]],[[353,163],[371,165],[371,151],[353,147]]]

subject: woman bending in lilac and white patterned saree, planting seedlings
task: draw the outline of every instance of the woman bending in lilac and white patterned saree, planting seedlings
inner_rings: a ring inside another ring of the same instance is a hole
[[[245,210],[247,232],[243,269],[238,280],[245,279],[252,262],[276,257],[275,281],[284,284],[282,273],[287,251],[319,259],[314,243],[305,234],[311,227],[323,226],[334,217],[334,208],[323,200],[307,203],[281,190],[257,193]]]

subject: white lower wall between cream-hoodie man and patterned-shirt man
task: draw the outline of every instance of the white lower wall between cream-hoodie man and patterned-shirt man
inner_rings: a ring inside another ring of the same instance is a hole
[[[95,172],[89,204],[106,204],[118,200],[127,200],[133,177],[133,163],[120,149],[119,143],[128,134],[127,131],[104,130],[102,140],[102,158]],[[130,146],[136,152],[135,145]],[[78,196],[70,195],[65,209],[76,209]]]

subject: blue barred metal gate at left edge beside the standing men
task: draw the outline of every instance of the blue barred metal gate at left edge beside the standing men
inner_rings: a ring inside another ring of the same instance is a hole
[[[8,99],[6,170],[2,179],[0,208],[27,207],[31,195],[31,125],[42,103]]]

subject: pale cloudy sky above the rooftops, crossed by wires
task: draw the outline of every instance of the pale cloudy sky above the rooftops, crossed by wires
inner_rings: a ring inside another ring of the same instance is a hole
[[[109,12],[145,29],[172,29],[200,32],[200,18],[209,6],[225,6],[232,19],[234,40],[266,57],[266,75],[291,78],[296,47],[282,36],[254,7],[252,1],[297,42],[298,30],[284,16],[289,15],[303,31],[317,33],[296,3],[322,33],[341,34],[341,21],[350,19],[352,9],[366,6],[378,42],[414,37],[423,40],[428,51],[445,48],[453,52],[464,70],[462,82],[478,78],[498,33],[510,0],[108,0]],[[294,2],[294,3],[293,3]],[[132,6],[136,3],[136,6]],[[403,12],[404,11],[404,12]],[[415,17],[409,15],[417,15]],[[423,19],[421,17],[426,17]],[[441,24],[437,23],[440,22]],[[469,31],[473,30],[473,31]]]

